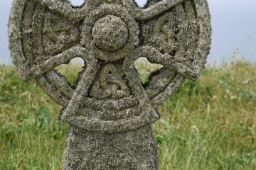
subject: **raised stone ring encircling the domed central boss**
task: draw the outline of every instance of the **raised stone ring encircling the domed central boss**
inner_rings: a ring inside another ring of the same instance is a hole
[[[95,22],[107,15],[113,15],[121,18],[122,21],[127,24],[127,29],[129,31],[126,44],[122,49],[117,50],[116,52],[100,50],[93,42],[92,28],[94,27]],[[103,4],[95,11],[91,11],[91,13],[88,14],[88,17],[85,18],[81,35],[81,45],[85,45],[85,47],[92,49],[95,56],[99,60],[104,60],[105,62],[116,62],[118,60],[122,60],[139,44],[139,26],[137,22],[129,15],[128,11],[124,7],[119,5]]]

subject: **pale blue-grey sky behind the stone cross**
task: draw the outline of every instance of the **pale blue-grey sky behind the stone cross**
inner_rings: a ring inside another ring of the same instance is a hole
[[[82,0],[72,0],[80,4]],[[121,0],[120,0],[121,1]],[[220,62],[239,48],[247,60],[256,62],[256,0],[208,0],[213,26],[213,45],[208,62]],[[144,4],[144,0],[137,0]],[[0,64],[10,63],[7,20],[11,0],[0,0]]]

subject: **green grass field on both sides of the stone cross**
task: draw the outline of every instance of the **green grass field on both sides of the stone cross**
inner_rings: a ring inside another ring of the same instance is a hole
[[[256,65],[208,67],[159,106],[159,169],[256,169]],[[0,67],[0,169],[60,169],[60,106]]]

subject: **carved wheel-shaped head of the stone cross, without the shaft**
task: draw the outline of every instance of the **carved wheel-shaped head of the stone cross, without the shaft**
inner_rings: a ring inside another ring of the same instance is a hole
[[[90,131],[124,132],[155,121],[156,106],[174,93],[184,77],[200,75],[210,47],[205,0],[149,0],[145,8],[137,8],[133,0],[86,1],[80,8],[68,1],[16,0],[14,6],[18,15],[13,16],[21,17],[11,18],[14,29],[9,36],[19,75],[24,80],[36,78],[65,108],[62,120]],[[96,26],[97,21],[109,28]],[[118,27],[111,32],[114,24]],[[21,38],[15,36],[19,33]],[[113,37],[100,39],[105,34]],[[154,62],[164,65],[145,89],[133,66],[124,64],[137,50],[153,52],[159,56]],[[74,57],[85,60],[87,74],[83,72],[72,89],[54,68]],[[88,75],[92,77],[87,79]],[[144,108],[148,114],[142,113]],[[116,117],[113,112],[118,112]],[[133,124],[124,125],[124,120]],[[108,126],[107,121],[113,123]]]

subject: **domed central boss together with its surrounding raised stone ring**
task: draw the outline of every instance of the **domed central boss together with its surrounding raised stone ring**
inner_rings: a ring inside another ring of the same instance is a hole
[[[105,62],[122,60],[138,45],[139,26],[122,6],[102,5],[101,8],[90,14],[90,18],[87,18],[82,26],[81,44],[85,47],[90,47],[95,57],[99,60]],[[102,33],[97,35],[96,28],[99,28],[98,22],[107,22],[106,20],[110,20],[110,22],[105,25],[105,29],[100,30]],[[116,27],[120,26],[120,28],[114,28],[114,30],[110,31],[108,27],[112,28],[113,25]],[[110,32],[115,31],[115,33],[112,35],[104,35],[101,39],[100,35],[102,35],[104,31],[107,31],[106,29]],[[107,49],[107,47],[110,47],[110,49]]]

